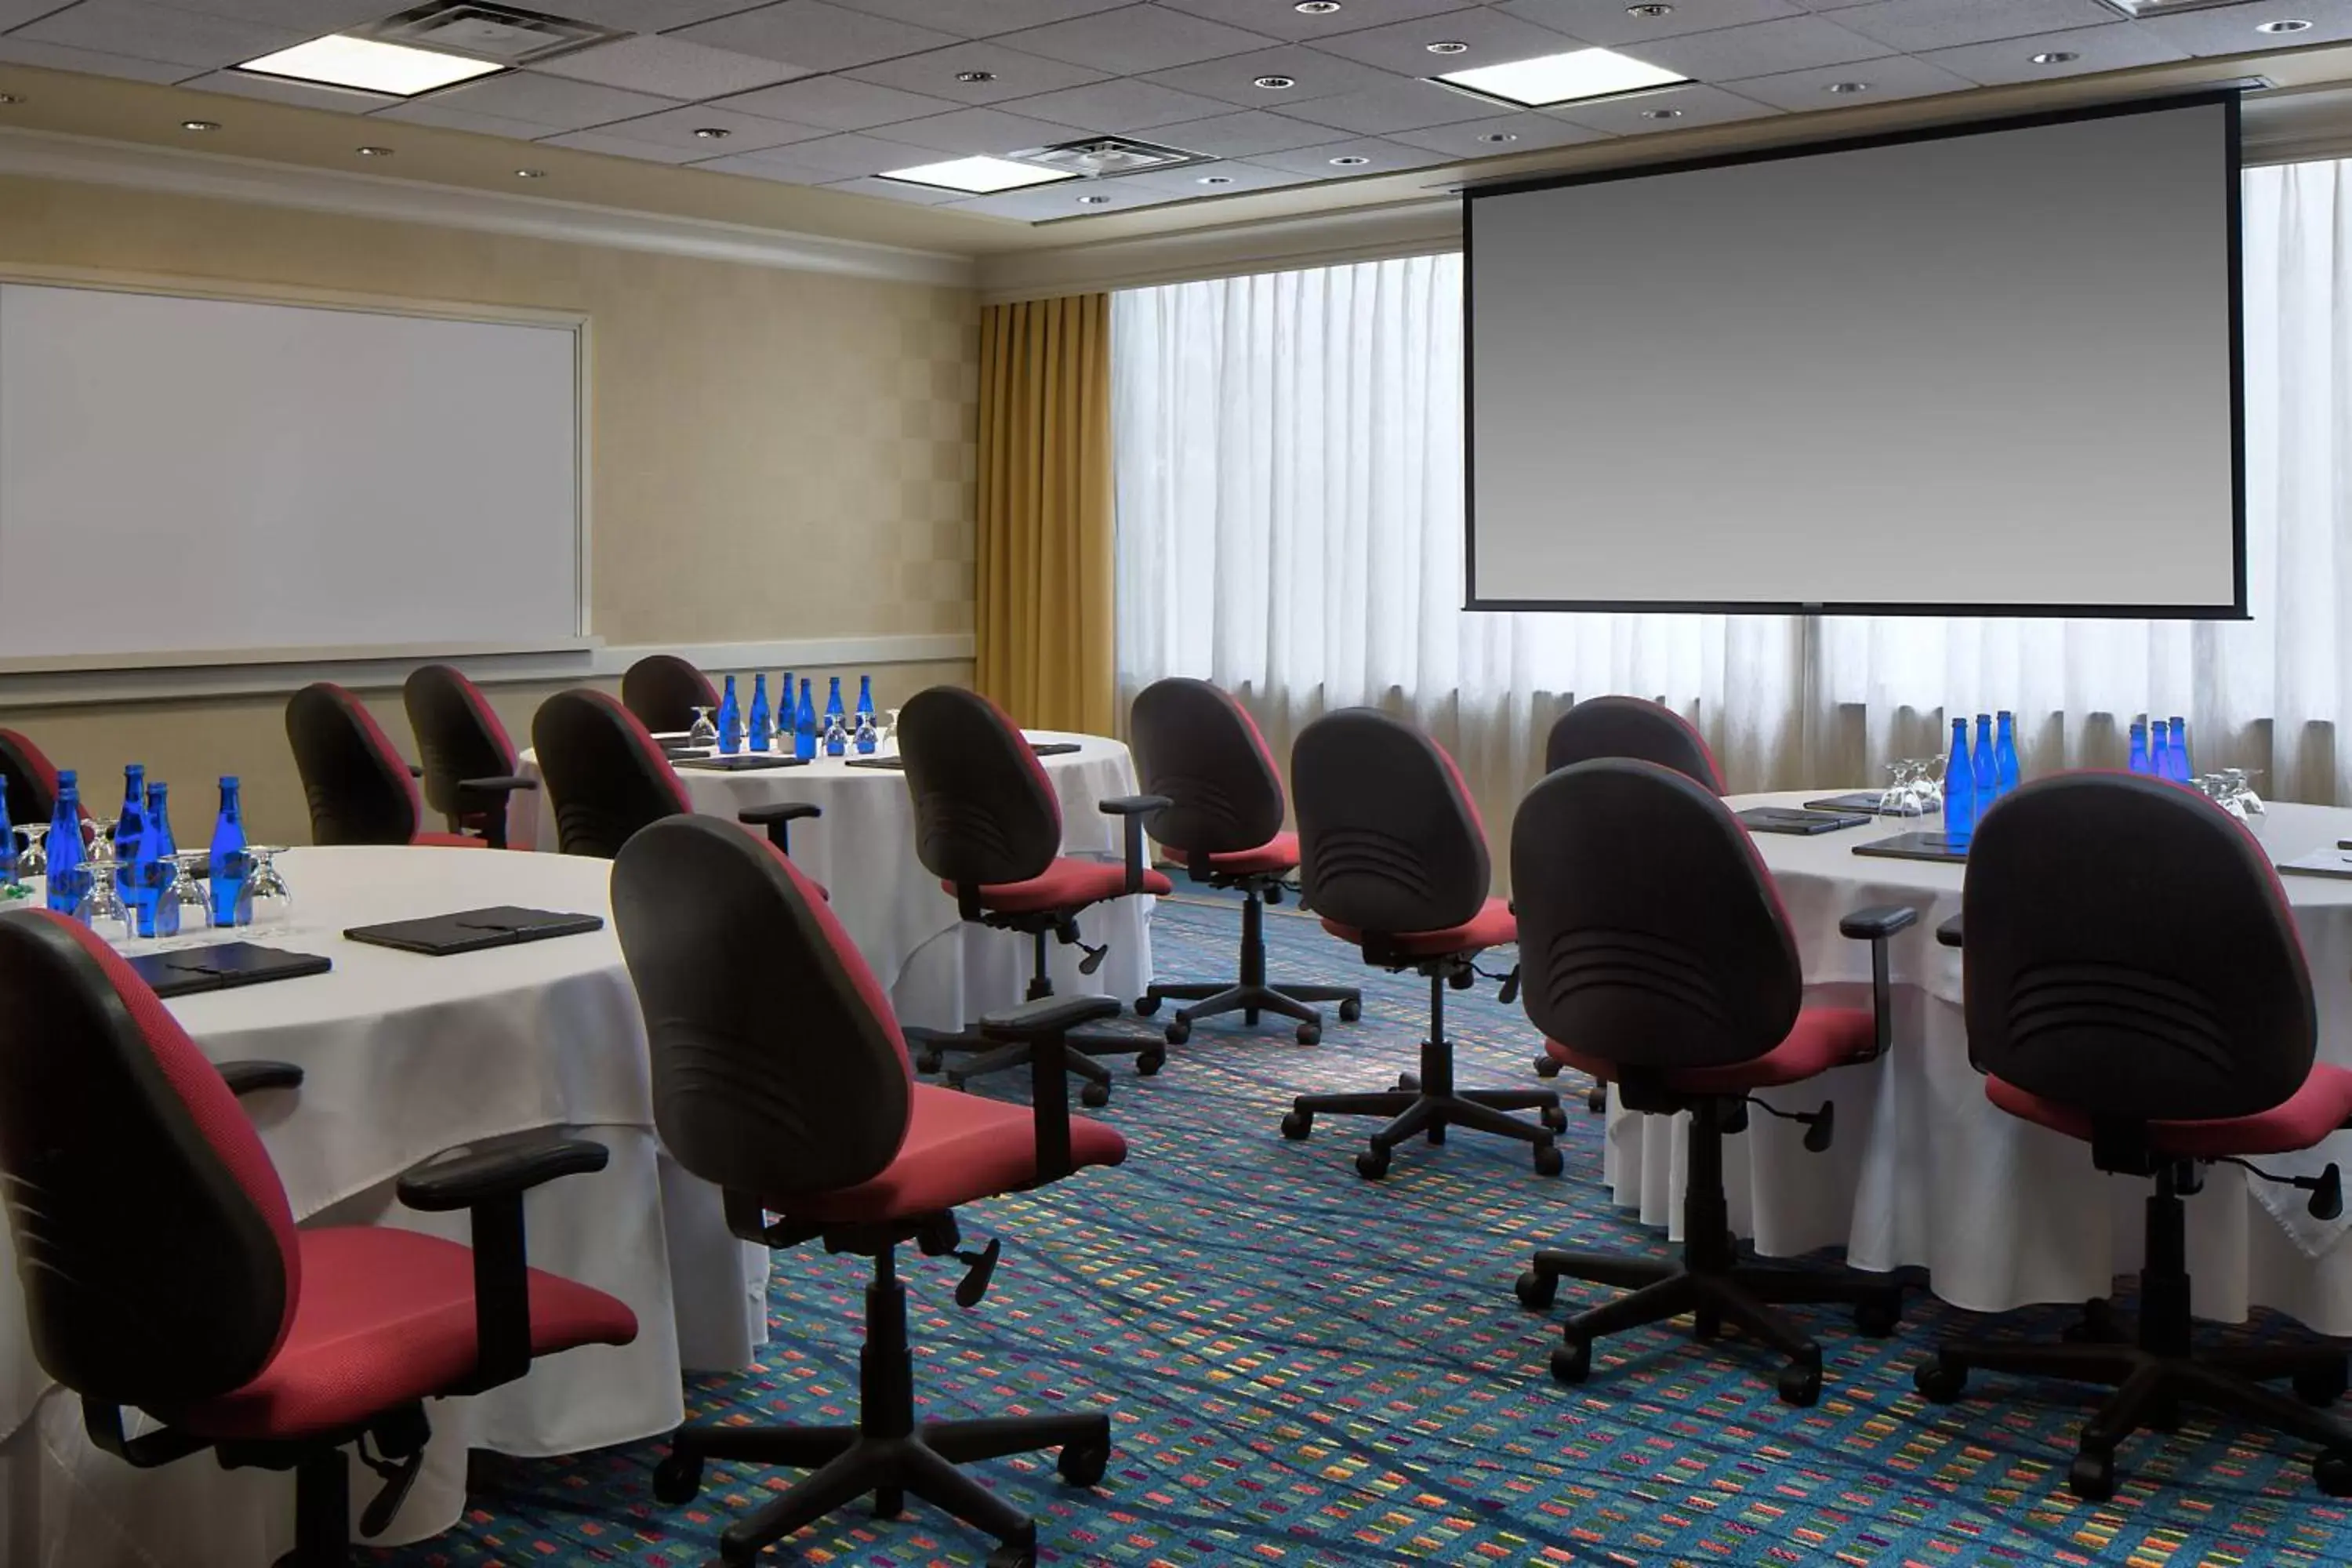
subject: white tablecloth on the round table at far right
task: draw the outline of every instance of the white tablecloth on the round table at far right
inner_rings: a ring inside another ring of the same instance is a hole
[[[1802,804],[1835,790],[1738,797],[1731,804]],[[1856,1267],[1924,1265],[1947,1302],[2002,1312],[2027,1302],[2105,1295],[2140,1267],[2145,1180],[2105,1178],[2089,1147],[1985,1100],[1969,1067],[1962,959],[1933,929],[1959,912],[1962,867],[1856,856],[1853,844],[1922,823],[1872,823],[1792,837],[1759,832],[1780,884],[1813,999],[1870,1001],[1870,945],[1837,936],[1837,919],[1875,903],[1912,905],[1919,924],[1891,943],[1893,1048],[1865,1067],[1766,1091],[1773,1105],[1837,1100],[1837,1143],[1806,1154],[1804,1128],[1755,1117],[1724,1154],[1733,1225],[1757,1248],[1788,1258],[1844,1246]],[[1929,823],[1933,825],[1933,823]],[[2352,837],[2352,811],[2274,804],[2260,827],[2286,860]],[[2352,1065],[2352,882],[2284,877],[2319,997],[2319,1058]],[[1686,1117],[1611,1110],[1606,1180],[1649,1225],[1682,1227]],[[2352,1166],[2352,1135],[2310,1157],[2265,1166]],[[2213,1166],[2190,1199],[2190,1269],[2199,1316],[2237,1321],[2249,1305],[2279,1307],[2321,1333],[2352,1333],[2352,1246],[2345,1222],[2303,1213],[2303,1194]]]

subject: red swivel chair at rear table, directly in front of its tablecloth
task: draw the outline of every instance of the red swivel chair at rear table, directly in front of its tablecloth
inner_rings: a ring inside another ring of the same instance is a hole
[[[1030,938],[1028,999],[1054,994],[1047,938],[1084,952],[1080,973],[1101,969],[1108,945],[1080,940],[1077,917],[1110,898],[1169,893],[1174,884],[1143,856],[1143,820],[1164,809],[1157,795],[1096,802],[1127,830],[1120,860],[1061,853],[1061,802],[1037,752],[995,703],[960,686],[917,691],[898,710],[898,759],[915,799],[915,858],[955,898],[962,919]],[[1112,1009],[1117,1011],[1117,1009]],[[946,1084],[1023,1067],[1028,1041],[990,1041],[976,1032],[913,1030],[915,1065],[941,1072]],[[1167,1063],[1167,1046],[1134,1034],[1082,1034],[1068,1041],[1070,1072],[1087,1079],[1080,1100],[1105,1105],[1110,1074],[1096,1056],[1134,1056],[1136,1072]],[[962,1056],[948,1065],[946,1053]]]

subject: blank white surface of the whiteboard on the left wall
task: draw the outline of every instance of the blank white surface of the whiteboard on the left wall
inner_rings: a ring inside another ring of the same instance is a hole
[[[583,628],[579,324],[0,284],[0,661]]]

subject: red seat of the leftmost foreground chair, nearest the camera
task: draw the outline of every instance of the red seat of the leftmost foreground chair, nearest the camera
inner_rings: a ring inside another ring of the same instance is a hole
[[[376,1225],[306,1229],[301,1300],[278,1356],[233,1394],[174,1410],[209,1439],[339,1432],[461,1385],[475,1368],[473,1251]],[[628,1345],[637,1314],[532,1269],[532,1354]]]

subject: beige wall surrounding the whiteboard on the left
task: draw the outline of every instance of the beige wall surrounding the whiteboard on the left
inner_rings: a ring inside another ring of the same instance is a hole
[[[680,646],[971,630],[969,289],[0,179],[0,275],[9,268],[583,313],[597,637]],[[884,665],[877,701],[969,675]],[[546,691],[492,691],[517,741]],[[407,741],[397,691],[367,696]],[[181,785],[183,839],[209,820],[212,778],[228,771],[247,778],[256,835],[308,837],[280,708],[280,696],[7,708],[0,686],[0,724],[94,776],[108,809],[132,757]]]

